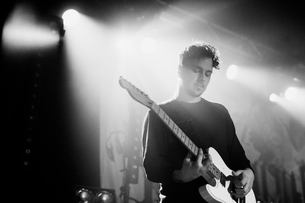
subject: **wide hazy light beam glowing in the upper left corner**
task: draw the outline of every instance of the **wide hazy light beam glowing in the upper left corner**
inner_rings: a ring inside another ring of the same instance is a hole
[[[14,54],[53,47],[64,34],[61,20],[37,15],[30,6],[17,5],[3,25],[3,46]]]

